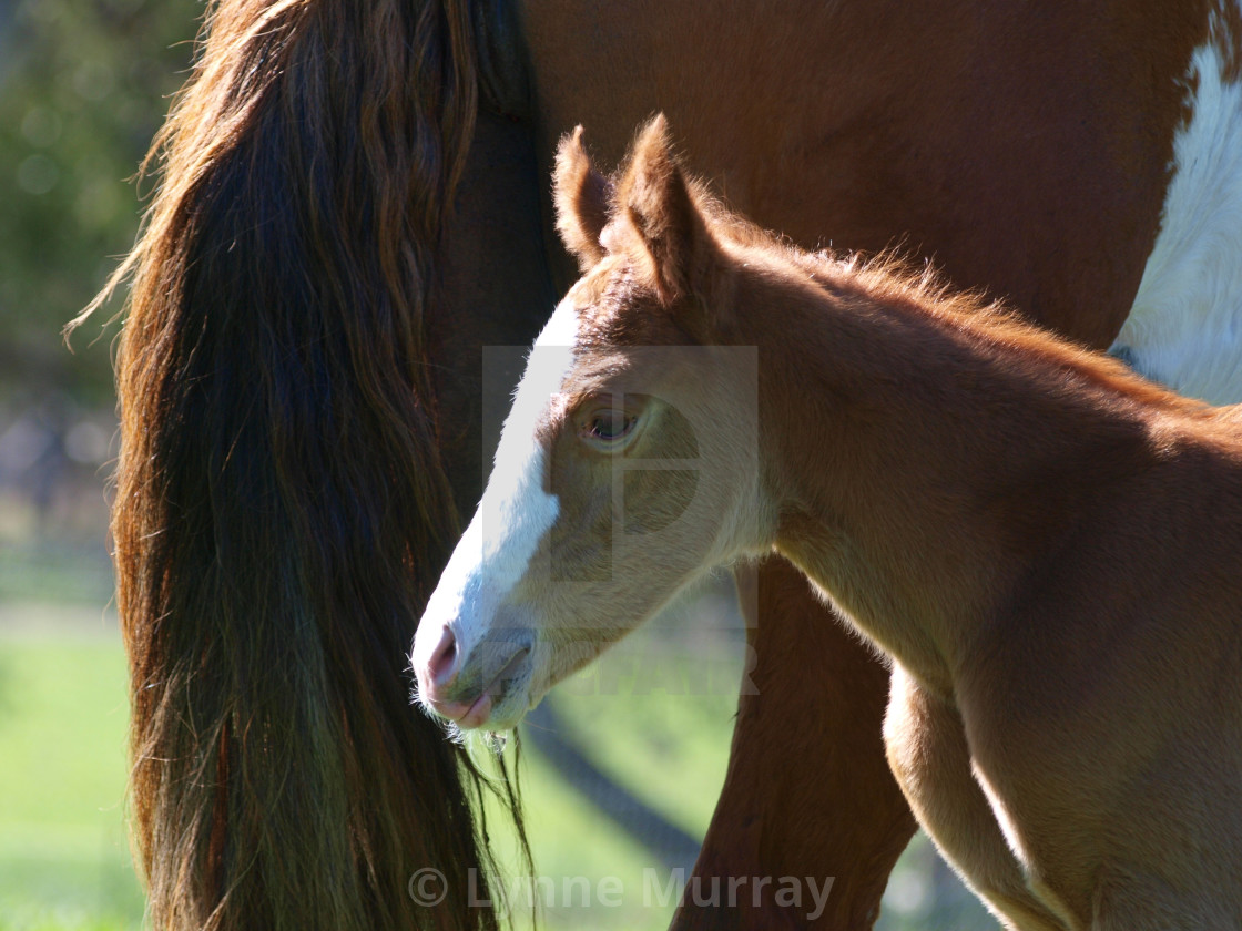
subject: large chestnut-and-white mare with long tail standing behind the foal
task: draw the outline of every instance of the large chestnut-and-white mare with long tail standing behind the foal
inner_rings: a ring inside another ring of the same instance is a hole
[[[1218,314],[1238,293],[1237,19],[212,2],[113,279],[132,283],[113,536],[153,925],[494,924],[463,897],[478,783],[410,709],[404,655],[482,490],[479,348],[528,345],[574,277],[544,170],[563,132],[590,124],[615,161],[662,108],[694,168],[794,241],[902,240],[1207,391],[1236,384],[1212,359],[1237,358]],[[888,673],[787,564],[743,583],[781,623],[749,627],[759,694],[697,871],[833,875],[821,924],[868,927],[914,829],[881,741]],[[802,727],[791,659],[822,690]],[[436,910],[406,895],[427,864]],[[688,902],[674,921],[786,920]]]

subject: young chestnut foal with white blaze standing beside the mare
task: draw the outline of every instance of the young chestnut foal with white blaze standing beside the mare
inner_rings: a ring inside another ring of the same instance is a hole
[[[510,726],[775,549],[892,659],[893,771],[1007,926],[1242,927],[1238,412],[774,241],[662,118],[615,184],[566,139],[556,201],[585,277],[420,624],[424,704]]]

